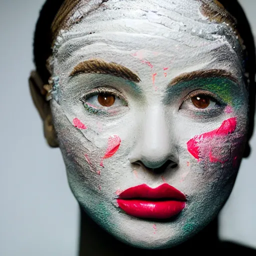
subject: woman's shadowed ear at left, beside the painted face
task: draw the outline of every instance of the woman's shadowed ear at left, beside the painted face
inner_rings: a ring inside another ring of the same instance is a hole
[[[44,137],[46,138],[49,146],[57,147],[58,141],[56,132],[52,123],[52,115],[50,110],[49,101],[46,100],[47,85],[45,85],[36,71],[30,73],[28,79],[30,94],[33,103],[38,110],[38,113],[43,121]]]

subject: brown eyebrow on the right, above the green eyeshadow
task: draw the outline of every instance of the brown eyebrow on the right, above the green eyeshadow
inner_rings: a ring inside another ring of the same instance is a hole
[[[195,78],[208,78],[208,77],[219,77],[219,76],[228,78],[229,80],[232,80],[238,83],[238,79],[229,71],[226,71],[224,69],[208,69],[208,70],[197,70],[197,71],[182,73],[176,76],[175,78],[173,78],[169,82],[169,85],[172,86],[178,82],[188,81]]]

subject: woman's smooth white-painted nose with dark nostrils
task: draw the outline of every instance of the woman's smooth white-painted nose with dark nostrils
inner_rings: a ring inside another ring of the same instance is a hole
[[[147,109],[142,118],[140,133],[141,136],[129,157],[131,163],[143,164],[154,171],[177,164],[170,120],[165,119],[162,106]]]

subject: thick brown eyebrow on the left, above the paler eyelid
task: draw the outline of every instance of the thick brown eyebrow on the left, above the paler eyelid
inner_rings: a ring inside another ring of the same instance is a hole
[[[103,59],[98,58],[80,62],[73,68],[69,76],[74,76],[79,73],[111,74],[133,82],[140,81],[138,75],[127,67],[114,62],[106,62]]]

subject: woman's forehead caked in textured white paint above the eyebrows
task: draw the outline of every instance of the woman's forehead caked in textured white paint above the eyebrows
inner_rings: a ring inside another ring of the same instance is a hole
[[[108,0],[93,10],[81,5],[61,30],[52,64],[70,72],[81,60],[100,57],[139,70],[171,67],[172,75],[219,68],[240,76],[241,48],[231,27],[207,20],[195,0]],[[92,8],[92,9],[91,9]],[[89,13],[88,13],[89,12]],[[86,15],[84,15],[84,13]],[[139,64],[138,64],[139,63]]]

